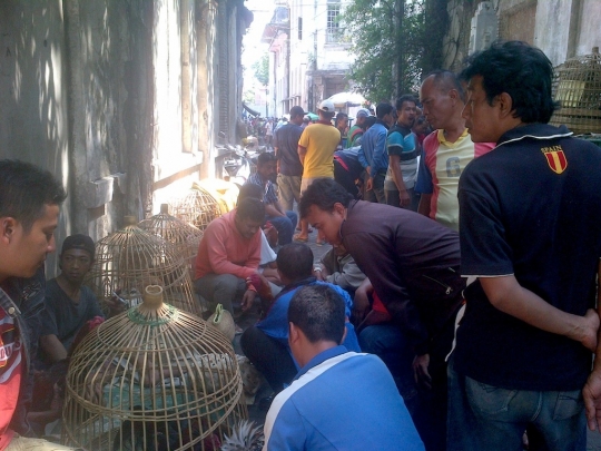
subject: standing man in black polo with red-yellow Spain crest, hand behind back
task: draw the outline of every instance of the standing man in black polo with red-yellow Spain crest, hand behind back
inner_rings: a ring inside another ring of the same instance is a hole
[[[526,428],[542,449],[584,450],[601,150],[548,125],[552,66],[539,49],[495,43],[462,77],[472,140],[496,147],[459,185],[461,269],[477,280],[450,363],[449,450],[522,450]]]

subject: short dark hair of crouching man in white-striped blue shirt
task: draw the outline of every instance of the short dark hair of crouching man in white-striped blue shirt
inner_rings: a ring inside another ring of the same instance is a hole
[[[288,322],[300,329],[312,343],[341,344],[345,316],[344,300],[326,284],[297,290],[288,306]]]

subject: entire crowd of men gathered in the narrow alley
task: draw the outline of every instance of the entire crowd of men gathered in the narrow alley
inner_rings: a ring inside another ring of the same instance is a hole
[[[601,425],[601,149],[549,125],[551,80],[540,50],[499,42],[348,130],[327,100],[315,124],[294,107],[272,130],[195,274],[234,317],[260,300],[237,332],[274,392],[266,450],[585,449]],[[89,237],[65,241],[43,288],[65,195],[0,161],[0,450],[56,416],[30,409],[30,362],[62,361],[101,316],[81,284]],[[311,227],[333,246],[317,263]]]

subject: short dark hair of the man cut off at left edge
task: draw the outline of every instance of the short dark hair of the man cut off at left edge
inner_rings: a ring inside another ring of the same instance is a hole
[[[26,233],[45,214],[47,205],[67,197],[62,185],[48,170],[14,159],[0,160],[0,217],[19,220]]]

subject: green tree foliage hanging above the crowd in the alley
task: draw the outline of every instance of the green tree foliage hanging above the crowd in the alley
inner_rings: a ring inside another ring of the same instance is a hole
[[[365,97],[378,102],[417,91],[428,31],[426,1],[352,0],[346,8],[356,57],[351,78]]]

